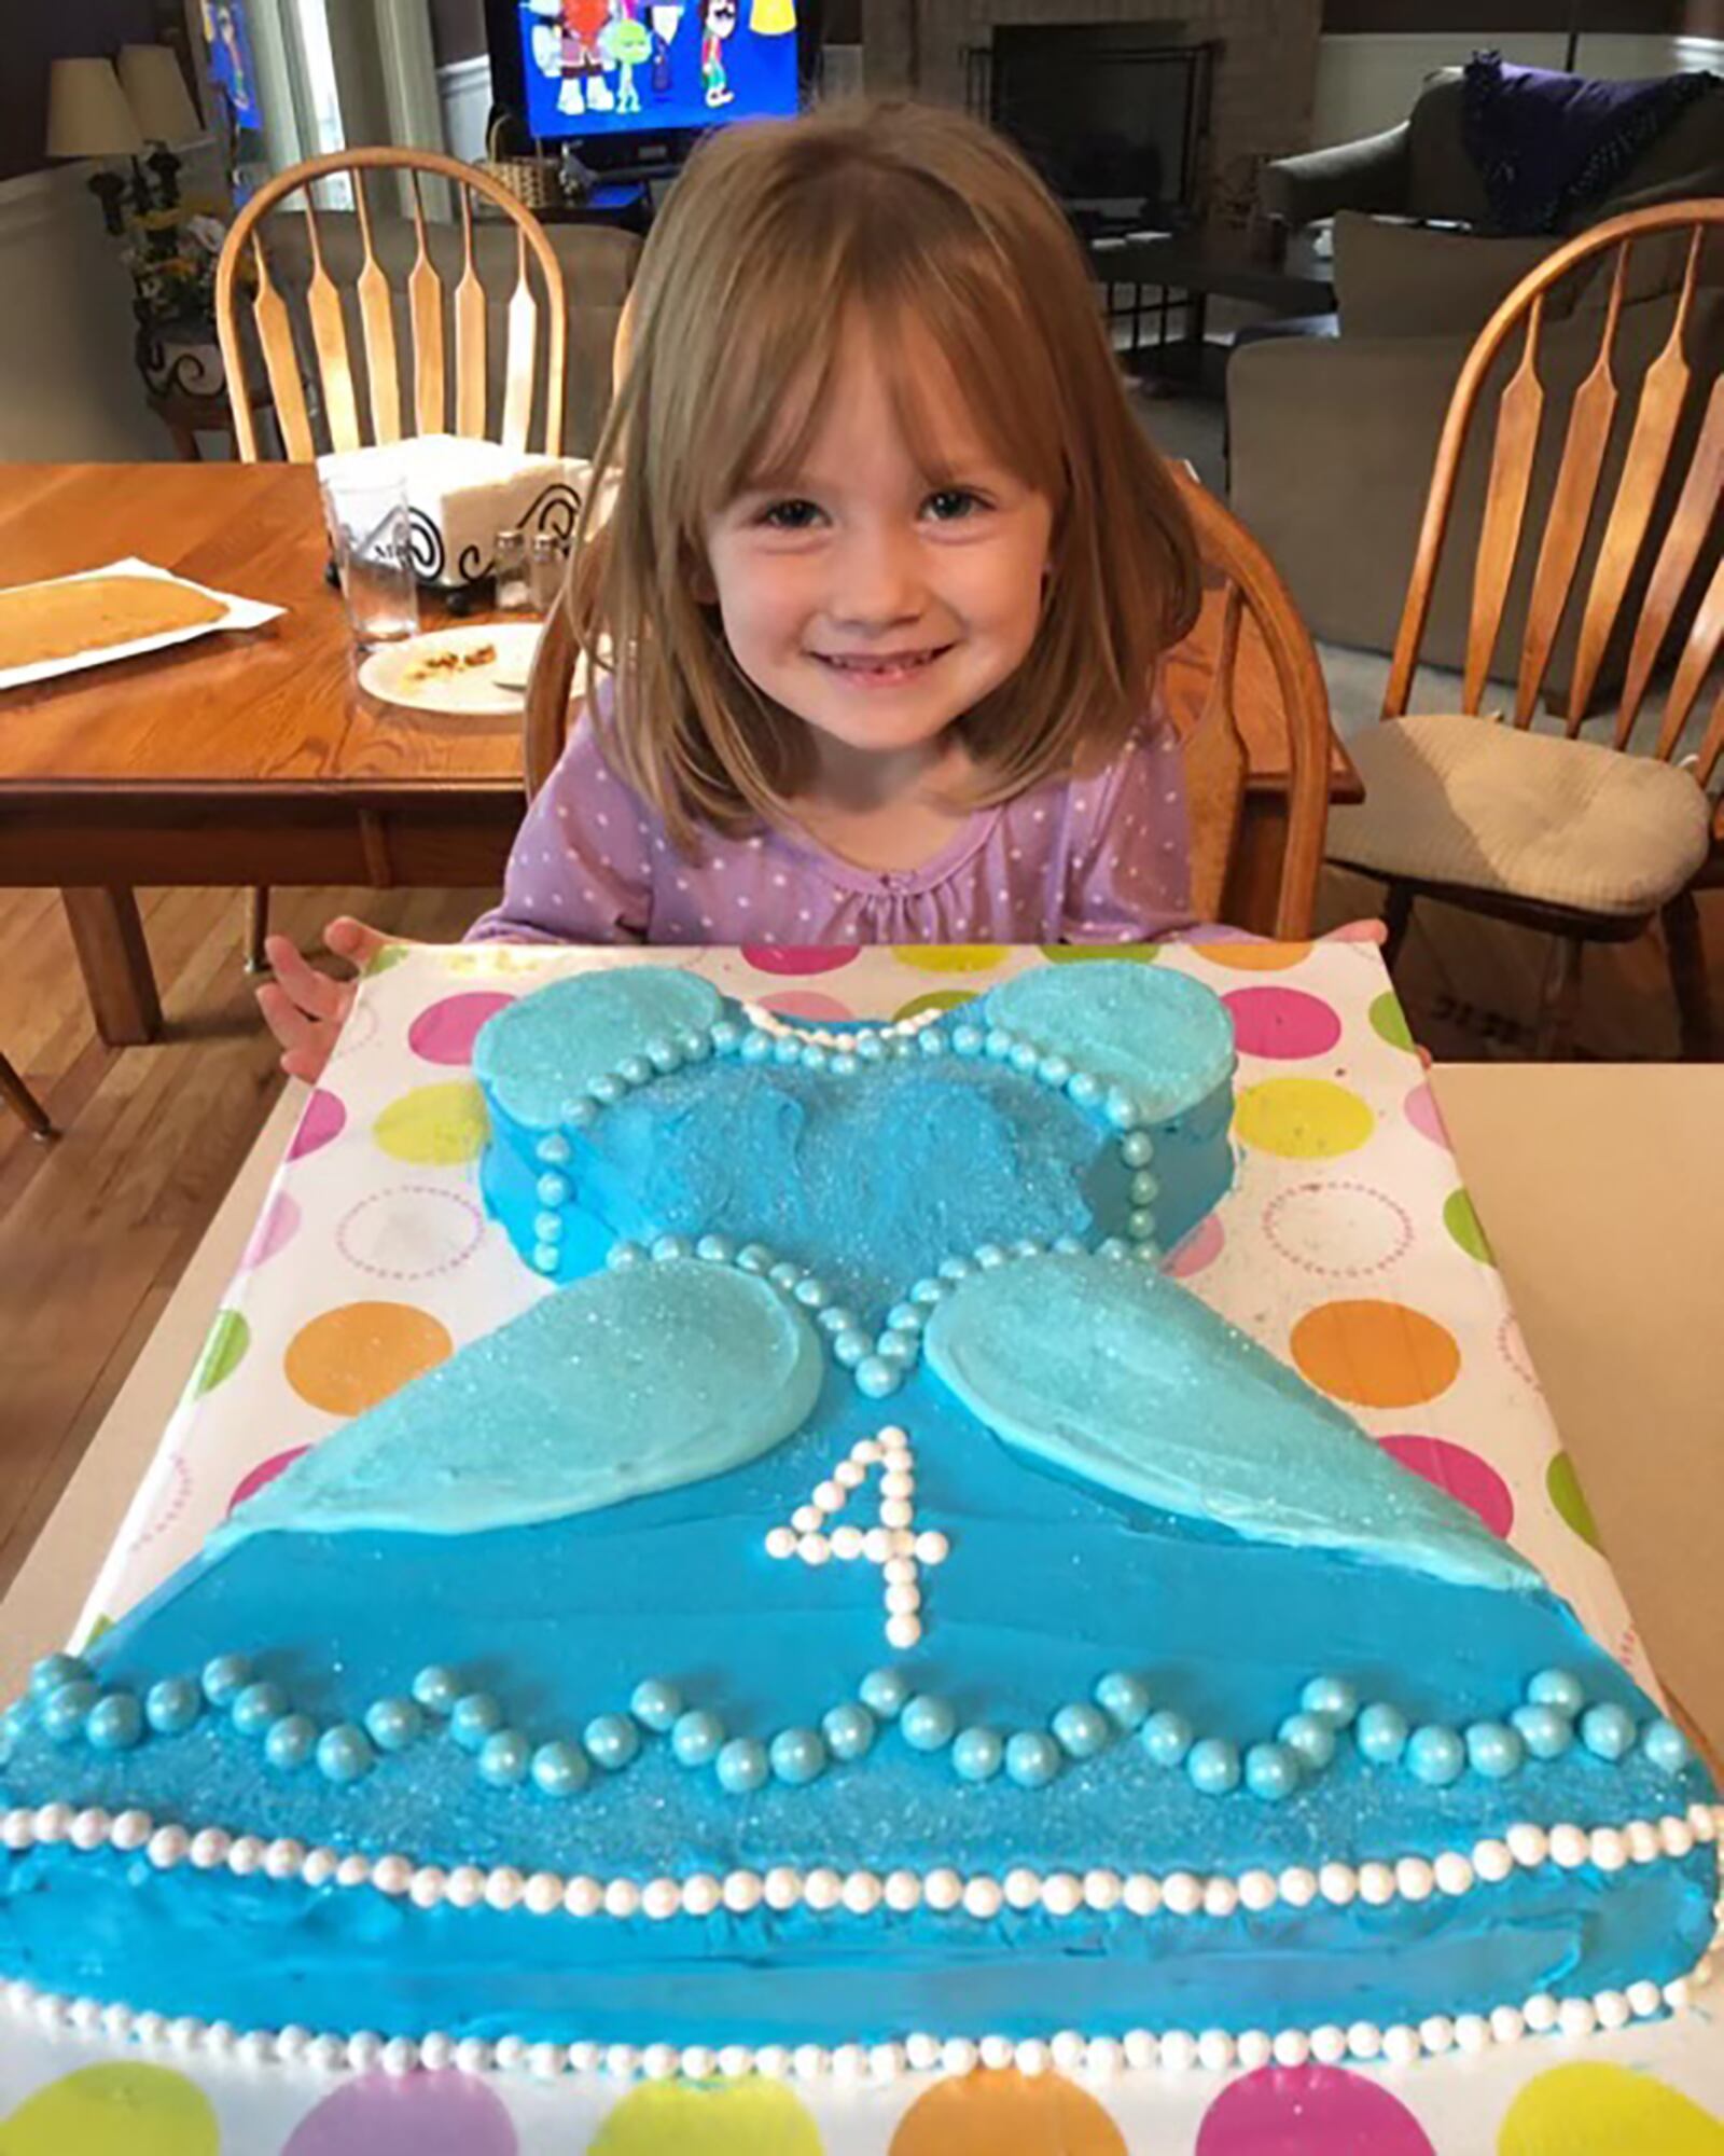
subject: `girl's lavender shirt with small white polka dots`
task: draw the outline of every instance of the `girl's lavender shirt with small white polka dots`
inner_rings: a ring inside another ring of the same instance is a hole
[[[978,808],[920,869],[810,839],[705,832],[696,858],[610,768],[590,722],[526,813],[470,942],[1138,942],[1192,925],[1179,744],[1146,718],[1090,778]]]

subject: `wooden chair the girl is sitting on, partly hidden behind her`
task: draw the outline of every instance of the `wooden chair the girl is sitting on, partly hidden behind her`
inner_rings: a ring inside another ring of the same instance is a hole
[[[1185,505],[1198,530],[1207,582],[1222,593],[1215,660],[1207,694],[1183,733],[1185,789],[1192,815],[1192,903],[1198,921],[1224,921],[1228,877],[1246,800],[1246,744],[1235,714],[1239,640],[1246,623],[1263,638],[1287,711],[1289,802],[1287,841],[1274,901],[1274,929],[1282,938],[1310,934],[1317,875],[1323,865],[1323,824],[1330,806],[1330,699],[1310,632],[1299,619],[1274,563],[1233,511],[1183,472]],[[1200,632],[1205,647],[1213,617]],[[524,768],[528,800],[550,778],[569,729],[575,683],[575,642],[556,606],[539,640],[526,696]]]

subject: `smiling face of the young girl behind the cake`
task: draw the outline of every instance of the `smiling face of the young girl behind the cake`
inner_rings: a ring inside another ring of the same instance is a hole
[[[853,750],[937,740],[1017,671],[1041,623],[1052,505],[983,446],[933,347],[916,364],[937,472],[856,336],[800,470],[707,526],[737,666]]]

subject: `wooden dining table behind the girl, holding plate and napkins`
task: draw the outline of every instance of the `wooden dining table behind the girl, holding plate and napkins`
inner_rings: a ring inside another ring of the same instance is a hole
[[[138,886],[502,882],[522,819],[519,722],[360,690],[308,466],[0,466],[0,586],[125,556],[287,612],[0,694],[0,886],[60,888],[108,1044],[149,1041],[162,1024]],[[1168,668],[1183,727],[1202,705],[1220,614],[1211,591]],[[1237,722],[1248,774],[1226,916],[1267,931],[1289,742],[1250,627]],[[1330,798],[1362,793],[1336,742]]]

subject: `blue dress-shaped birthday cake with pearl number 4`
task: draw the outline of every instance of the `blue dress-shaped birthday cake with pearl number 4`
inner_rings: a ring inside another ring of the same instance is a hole
[[[1687,2003],[1718,1811],[1528,1563],[1159,1257],[1226,1011],[821,1031],[582,972],[474,1056],[532,1307],[0,1720],[0,1984],[312,2063],[1409,2059]]]

